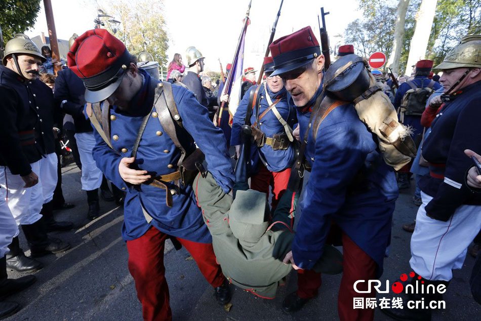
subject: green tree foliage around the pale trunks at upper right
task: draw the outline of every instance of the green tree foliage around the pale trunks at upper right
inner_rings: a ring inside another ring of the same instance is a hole
[[[392,48],[397,0],[359,0],[364,18],[351,22],[345,30],[345,41],[354,45],[356,53],[367,57],[374,51],[387,55]],[[403,51],[399,61],[399,73],[404,72],[408,61],[411,38],[414,34],[415,17],[421,0],[411,0],[406,13]],[[391,28],[392,26],[392,28]],[[382,33],[373,30],[382,30]],[[438,0],[426,59],[434,65],[443,61],[446,54],[467,34],[481,33],[481,1]]]

